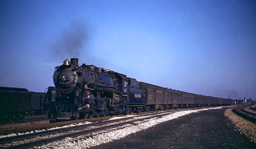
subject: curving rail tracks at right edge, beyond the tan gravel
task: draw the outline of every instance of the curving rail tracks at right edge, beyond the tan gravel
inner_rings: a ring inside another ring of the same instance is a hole
[[[255,107],[255,105],[243,105],[242,107],[233,108],[232,111],[237,115],[256,123],[256,110],[254,110],[252,107]]]

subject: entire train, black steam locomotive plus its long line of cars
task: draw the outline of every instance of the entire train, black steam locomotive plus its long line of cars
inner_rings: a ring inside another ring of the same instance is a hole
[[[55,67],[55,87],[47,90],[48,118],[84,119],[131,112],[232,104],[230,99],[183,92],[138,82],[94,65],[78,65],[77,58]],[[47,108],[46,108],[47,109]]]

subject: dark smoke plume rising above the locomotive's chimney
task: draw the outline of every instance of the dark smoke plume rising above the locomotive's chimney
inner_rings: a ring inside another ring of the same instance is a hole
[[[60,38],[54,43],[54,57],[61,59],[79,58],[82,49],[86,51],[89,41],[89,32],[83,21],[72,21],[69,27],[64,29]],[[84,52],[85,52],[84,51]]]

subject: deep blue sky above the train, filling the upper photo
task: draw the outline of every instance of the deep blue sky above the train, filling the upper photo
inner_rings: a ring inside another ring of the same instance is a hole
[[[54,67],[77,57],[163,87],[256,99],[255,0],[1,0],[0,49],[0,86],[43,92]]]

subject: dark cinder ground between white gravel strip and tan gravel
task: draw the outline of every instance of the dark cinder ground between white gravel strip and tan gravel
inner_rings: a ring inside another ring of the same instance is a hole
[[[256,149],[223,115],[226,109],[192,113],[93,149]]]

